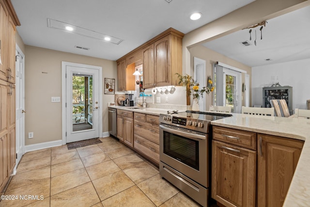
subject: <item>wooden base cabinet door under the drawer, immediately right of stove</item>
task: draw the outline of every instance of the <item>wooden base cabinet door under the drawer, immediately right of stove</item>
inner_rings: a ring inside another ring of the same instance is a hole
[[[256,151],[212,141],[212,198],[227,207],[254,207]]]

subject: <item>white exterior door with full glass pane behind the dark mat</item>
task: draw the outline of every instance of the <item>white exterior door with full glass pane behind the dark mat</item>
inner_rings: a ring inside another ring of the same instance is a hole
[[[100,137],[100,70],[88,65],[65,65],[65,74],[66,143]]]

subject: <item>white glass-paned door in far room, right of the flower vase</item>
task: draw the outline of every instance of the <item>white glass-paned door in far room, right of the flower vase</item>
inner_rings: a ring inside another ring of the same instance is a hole
[[[233,113],[241,113],[241,73],[223,68],[223,106],[231,106]]]

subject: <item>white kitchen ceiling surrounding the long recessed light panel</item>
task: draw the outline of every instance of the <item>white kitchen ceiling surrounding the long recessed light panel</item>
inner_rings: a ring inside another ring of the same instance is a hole
[[[187,33],[254,0],[172,0],[170,3],[165,0],[11,1],[21,23],[17,31],[26,45],[117,60],[170,27]],[[201,12],[202,18],[190,20],[193,12]],[[124,41],[114,45],[48,28],[47,18]],[[268,34],[265,36],[267,38]]]

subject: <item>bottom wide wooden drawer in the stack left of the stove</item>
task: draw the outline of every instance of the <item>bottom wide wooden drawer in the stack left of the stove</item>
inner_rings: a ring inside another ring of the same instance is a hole
[[[134,148],[139,150],[143,155],[159,164],[159,145],[152,143],[139,135],[134,136]]]

